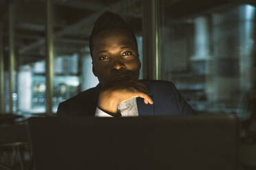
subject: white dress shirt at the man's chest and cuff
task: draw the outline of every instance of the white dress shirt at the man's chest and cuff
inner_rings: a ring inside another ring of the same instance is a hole
[[[136,98],[129,99],[118,105],[118,112],[122,117],[138,117]],[[95,117],[112,117],[100,108],[96,107]]]

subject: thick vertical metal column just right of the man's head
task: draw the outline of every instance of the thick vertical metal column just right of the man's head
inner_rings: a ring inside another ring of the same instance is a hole
[[[159,80],[160,48],[158,0],[143,0],[143,62],[145,63],[144,78]],[[149,69],[150,68],[150,69]]]

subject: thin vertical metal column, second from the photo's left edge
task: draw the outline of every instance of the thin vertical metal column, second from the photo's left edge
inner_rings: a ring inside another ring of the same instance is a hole
[[[14,51],[14,17],[15,17],[15,2],[13,1],[9,5],[9,109],[10,114],[13,114],[13,98],[12,94],[14,93],[14,69],[15,69],[15,51]]]

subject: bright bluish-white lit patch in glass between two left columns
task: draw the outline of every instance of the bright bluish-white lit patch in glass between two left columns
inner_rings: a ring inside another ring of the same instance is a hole
[[[20,66],[18,73],[18,112],[45,112],[45,62]]]

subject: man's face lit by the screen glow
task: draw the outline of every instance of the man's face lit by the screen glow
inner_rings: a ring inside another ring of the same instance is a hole
[[[138,80],[140,60],[136,42],[125,29],[106,29],[93,38],[93,72],[102,86]]]

